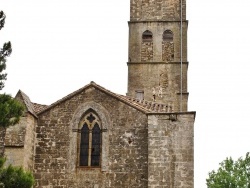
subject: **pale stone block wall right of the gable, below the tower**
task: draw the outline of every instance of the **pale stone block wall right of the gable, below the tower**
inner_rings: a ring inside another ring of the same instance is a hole
[[[194,116],[148,116],[149,188],[194,187]]]

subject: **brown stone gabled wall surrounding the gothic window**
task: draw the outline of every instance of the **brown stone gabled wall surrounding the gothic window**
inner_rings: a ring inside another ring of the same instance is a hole
[[[86,106],[100,112],[101,121],[108,114],[108,153],[102,158],[108,161],[100,168],[77,163],[79,133],[72,128]],[[88,88],[40,114],[36,134],[35,187],[147,187],[147,116],[98,89]]]

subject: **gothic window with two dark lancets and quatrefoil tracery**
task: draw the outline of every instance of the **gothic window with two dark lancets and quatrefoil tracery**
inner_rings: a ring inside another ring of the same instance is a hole
[[[91,110],[81,121],[80,166],[98,167],[101,156],[101,122]]]

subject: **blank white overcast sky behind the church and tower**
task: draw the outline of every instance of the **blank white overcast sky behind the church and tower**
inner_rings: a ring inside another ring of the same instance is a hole
[[[95,81],[127,90],[129,0],[0,0],[11,41],[2,92],[51,104]],[[195,188],[226,157],[250,151],[250,1],[187,0]]]

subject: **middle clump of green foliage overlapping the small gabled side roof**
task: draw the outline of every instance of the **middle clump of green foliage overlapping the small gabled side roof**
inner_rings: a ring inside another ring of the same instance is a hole
[[[0,94],[0,126],[7,128],[19,122],[24,106],[10,95]]]

